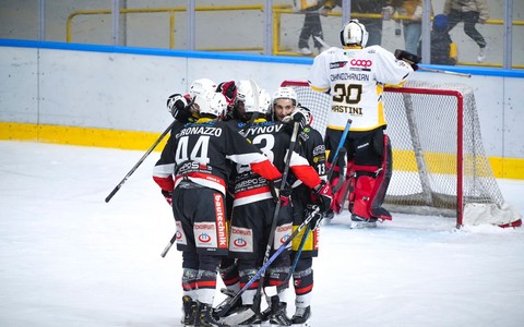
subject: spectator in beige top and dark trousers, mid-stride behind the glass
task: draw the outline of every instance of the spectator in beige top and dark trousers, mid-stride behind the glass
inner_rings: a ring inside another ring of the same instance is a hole
[[[464,33],[480,48],[477,62],[484,62],[486,60],[487,45],[483,35],[475,27],[475,24],[484,24],[489,20],[487,1],[445,0],[444,14],[446,14],[449,19],[449,31],[453,29],[458,22],[464,22]]]

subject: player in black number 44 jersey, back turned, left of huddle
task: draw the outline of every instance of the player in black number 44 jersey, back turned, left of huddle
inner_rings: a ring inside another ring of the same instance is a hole
[[[182,323],[217,326],[212,304],[216,270],[229,247],[224,207],[230,173],[228,161],[247,165],[270,181],[282,174],[231,125],[217,120],[226,108],[222,94],[202,93],[192,100],[200,118],[171,131],[153,179],[164,194],[172,194],[177,249],[182,252]],[[190,322],[191,316],[194,322]]]

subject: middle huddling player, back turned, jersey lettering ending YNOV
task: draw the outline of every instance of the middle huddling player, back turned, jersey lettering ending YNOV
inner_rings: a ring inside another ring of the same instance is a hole
[[[289,149],[289,125],[265,119],[270,106],[271,97],[264,89],[260,89],[250,81],[239,81],[237,105],[235,107],[237,110],[235,116],[239,120],[231,121],[231,123],[252,144],[257,145],[272,159],[273,164],[281,171],[284,170],[287,154],[291,152],[290,171],[301,183],[307,185],[309,193],[311,193],[311,190],[317,190],[319,204],[323,208],[329,208],[331,205],[330,184],[321,181],[319,174],[306,158],[299,156],[296,150]],[[264,249],[267,246],[269,235],[272,232],[271,226],[274,219],[275,201],[271,183],[261,179],[249,167],[236,165],[233,186],[235,201],[229,250],[230,255],[237,258],[240,287],[243,287],[257,274],[262,264]],[[278,249],[289,237],[293,226],[293,208],[288,197],[289,191],[279,191],[282,208],[278,217],[276,217],[276,229],[273,231],[273,250]],[[267,279],[264,280],[264,286],[276,286],[282,290],[278,293],[279,301],[273,302],[267,313],[267,318],[272,325],[291,325],[291,320],[286,315],[285,290],[287,286],[283,284],[289,271],[289,253],[284,252],[266,271]],[[255,282],[241,294],[245,310],[250,310],[249,306],[253,305],[258,288],[259,284]],[[260,312],[260,307],[251,310]],[[253,316],[241,325],[253,325],[260,323],[260,316]]]

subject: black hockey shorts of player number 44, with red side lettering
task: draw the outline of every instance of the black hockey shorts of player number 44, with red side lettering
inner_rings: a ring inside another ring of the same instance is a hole
[[[177,249],[206,255],[228,254],[228,232],[224,195],[207,187],[172,192],[177,225]]]

